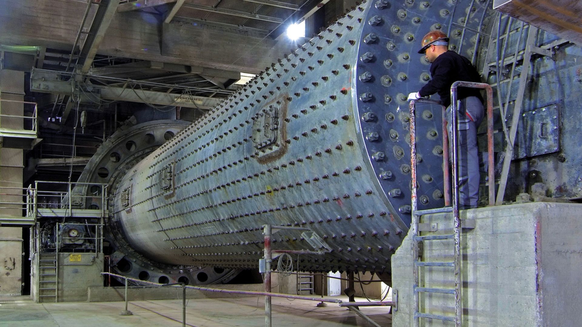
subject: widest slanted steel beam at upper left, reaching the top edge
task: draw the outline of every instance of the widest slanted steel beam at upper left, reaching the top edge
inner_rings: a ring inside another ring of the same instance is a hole
[[[93,64],[93,58],[97,54],[99,45],[101,45],[101,41],[105,36],[105,31],[107,31],[118,6],[119,0],[101,0],[87,34],[87,39],[81,48],[80,63],[83,65],[81,72],[88,72],[91,64]]]

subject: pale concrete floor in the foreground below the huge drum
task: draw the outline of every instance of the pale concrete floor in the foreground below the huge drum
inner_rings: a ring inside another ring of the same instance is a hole
[[[345,298],[345,297],[339,297]],[[186,325],[193,327],[264,326],[264,297],[203,298],[189,300]],[[4,301],[2,301],[4,300]],[[347,298],[345,298],[347,300]],[[365,299],[356,299],[356,301]],[[272,298],[273,326],[336,327],[372,326],[346,308],[315,302]],[[33,303],[30,300],[0,299],[0,326],[182,326],[182,300],[130,301],[132,316],[120,316],[123,302]],[[392,325],[386,307],[361,310],[381,326]]]

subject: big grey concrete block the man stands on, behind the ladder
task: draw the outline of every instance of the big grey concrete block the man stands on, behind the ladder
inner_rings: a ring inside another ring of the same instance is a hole
[[[463,326],[579,326],[582,294],[582,205],[535,202],[462,211],[476,228],[462,236]],[[438,233],[451,233],[449,218]],[[425,261],[452,261],[452,240],[424,242]],[[410,235],[392,256],[398,311],[393,326],[413,326]],[[427,258],[430,258],[427,260]],[[452,268],[421,268],[426,287],[453,287]],[[452,295],[422,296],[422,312],[454,315]],[[450,323],[423,319],[425,326]]]

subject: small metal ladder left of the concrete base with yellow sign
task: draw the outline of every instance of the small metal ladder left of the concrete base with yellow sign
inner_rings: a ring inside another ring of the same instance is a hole
[[[39,302],[58,302],[58,267],[58,253],[40,253],[37,279]]]

